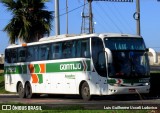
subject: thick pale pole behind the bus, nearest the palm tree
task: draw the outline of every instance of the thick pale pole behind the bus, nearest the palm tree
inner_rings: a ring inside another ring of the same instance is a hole
[[[55,0],[55,34],[60,35],[59,0]]]

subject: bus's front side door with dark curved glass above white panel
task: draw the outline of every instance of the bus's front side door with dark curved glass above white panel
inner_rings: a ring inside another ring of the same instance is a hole
[[[106,55],[100,38],[92,38],[93,82],[100,94],[107,94]],[[97,91],[96,91],[97,92]]]

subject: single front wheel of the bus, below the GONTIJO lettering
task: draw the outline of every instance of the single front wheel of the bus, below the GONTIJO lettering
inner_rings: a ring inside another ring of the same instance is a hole
[[[82,84],[81,87],[81,96],[83,98],[83,100],[90,100],[91,99],[91,95],[90,95],[90,89],[89,89],[89,85],[87,82],[84,82]]]

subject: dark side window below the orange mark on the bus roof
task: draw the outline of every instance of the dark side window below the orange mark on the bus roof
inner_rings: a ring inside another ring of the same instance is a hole
[[[18,48],[18,62],[25,62],[26,48]]]

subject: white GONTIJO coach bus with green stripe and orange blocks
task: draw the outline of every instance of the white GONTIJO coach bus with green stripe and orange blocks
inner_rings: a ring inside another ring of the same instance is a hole
[[[5,50],[5,89],[20,98],[35,94],[148,93],[148,49],[128,34],[59,35]]]

